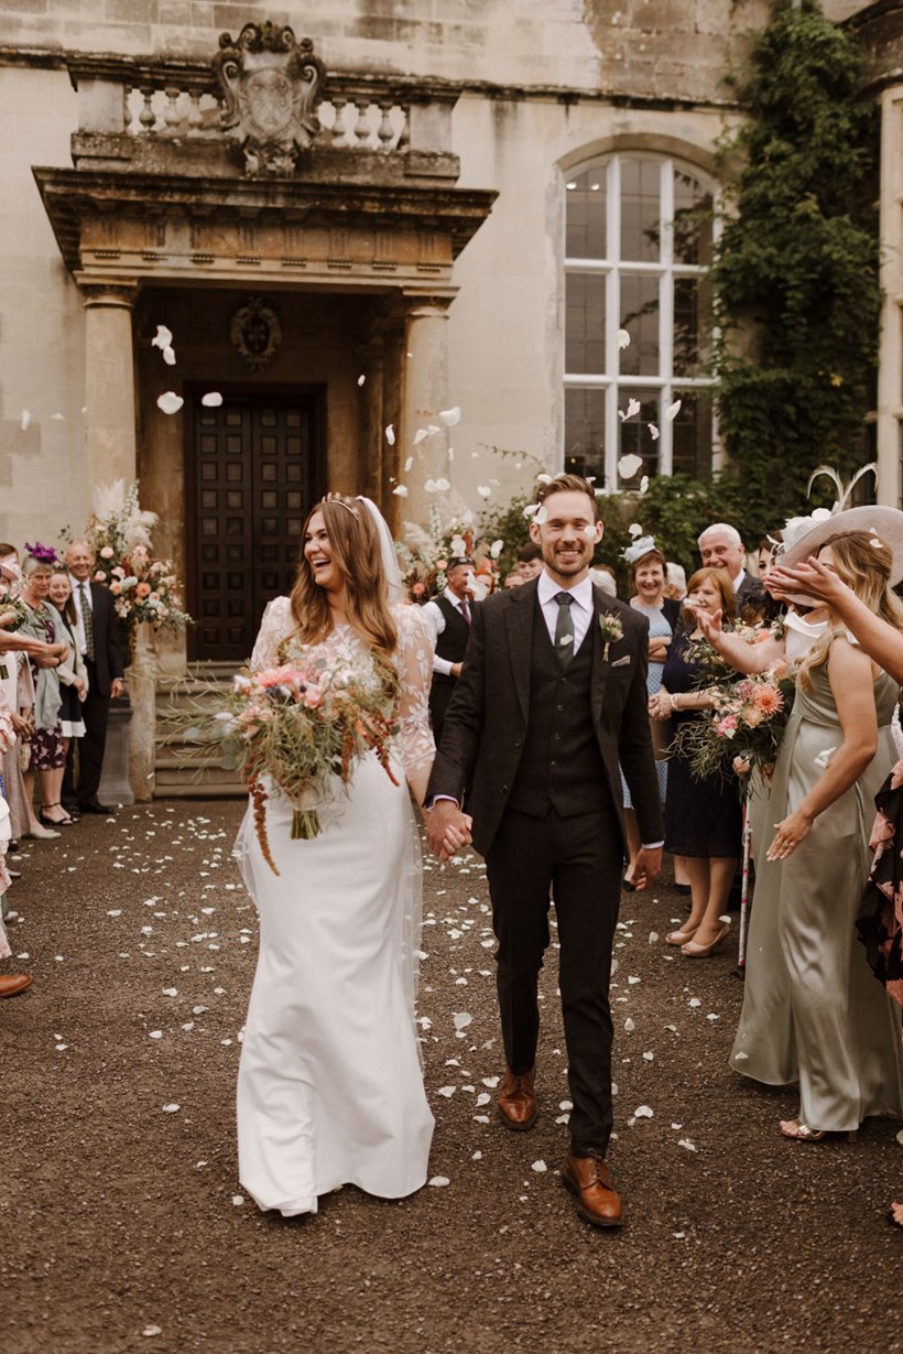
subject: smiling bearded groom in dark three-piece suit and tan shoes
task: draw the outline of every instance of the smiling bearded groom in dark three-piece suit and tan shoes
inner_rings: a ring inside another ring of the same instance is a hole
[[[498,1109],[532,1128],[536,980],[550,891],[560,942],[559,987],[574,1109],[562,1178],[578,1212],[619,1227],[621,1201],[605,1152],[612,1132],[608,984],[624,837],[619,764],[642,841],[638,888],[661,868],[663,835],[648,731],[648,626],[594,588],[589,566],[602,524],[592,486],[558,475],[539,494],[531,536],[543,571],[474,613],[463,674],[445,715],[426,803],[437,854],[466,834],[486,858],[506,1070]]]

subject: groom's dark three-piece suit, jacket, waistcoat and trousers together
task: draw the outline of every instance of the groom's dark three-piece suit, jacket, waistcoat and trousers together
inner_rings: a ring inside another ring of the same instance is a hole
[[[562,670],[536,584],[474,613],[464,672],[445,715],[429,798],[472,779],[474,845],[486,858],[508,1066],[536,1059],[536,980],[558,919],[571,1150],[605,1154],[612,1131],[609,974],[624,839],[619,762],[642,839],[662,839],[648,731],[648,628],[594,589],[589,631]],[[605,643],[600,616],[623,638]]]

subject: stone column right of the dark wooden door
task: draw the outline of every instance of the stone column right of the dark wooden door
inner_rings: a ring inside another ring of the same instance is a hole
[[[416,299],[405,322],[406,366],[398,459],[402,467],[409,456],[414,458],[414,463],[409,471],[401,470],[401,479],[408,486],[401,515],[421,525],[428,524],[429,509],[437,500],[435,493],[425,492],[425,481],[451,478],[445,428],[414,447],[420,429],[426,429],[429,424],[440,425],[439,410],[448,401],[448,305],[445,298]]]

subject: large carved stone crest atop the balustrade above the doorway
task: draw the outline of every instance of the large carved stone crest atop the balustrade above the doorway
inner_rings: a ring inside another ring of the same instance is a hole
[[[213,62],[225,96],[222,127],[245,156],[245,173],[291,176],[298,154],[320,131],[314,99],[325,69],[310,38],[288,27],[246,23],[233,42],[219,38]]]

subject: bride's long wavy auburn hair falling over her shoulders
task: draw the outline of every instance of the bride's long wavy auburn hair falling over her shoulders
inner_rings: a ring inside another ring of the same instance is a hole
[[[328,494],[314,504],[301,536],[298,575],[291,590],[291,613],[302,643],[320,643],[333,628],[329,598],[305,558],[305,542],[311,519],[322,513],[329,547],[345,588],[348,620],[382,658],[391,658],[398,643],[398,627],[389,609],[386,573],[379,548],[379,532],[364,504],[345,494]]]

